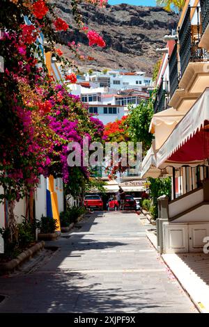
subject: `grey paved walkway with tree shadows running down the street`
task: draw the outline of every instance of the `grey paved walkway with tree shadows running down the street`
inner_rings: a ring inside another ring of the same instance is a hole
[[[137,214],[95,213],[78,225],[36,271],[0,278],[0,312],[196,312]]]

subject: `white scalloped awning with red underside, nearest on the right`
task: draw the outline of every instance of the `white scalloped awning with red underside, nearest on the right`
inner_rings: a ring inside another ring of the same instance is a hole
[[[197,99],[157,152],[157,168],[208,165],[209,88]]]

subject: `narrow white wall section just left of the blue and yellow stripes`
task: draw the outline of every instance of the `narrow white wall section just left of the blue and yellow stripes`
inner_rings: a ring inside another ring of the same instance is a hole
[[[40,183],[35,192],[36,219],[47,216],[47,179],[40,176]]]

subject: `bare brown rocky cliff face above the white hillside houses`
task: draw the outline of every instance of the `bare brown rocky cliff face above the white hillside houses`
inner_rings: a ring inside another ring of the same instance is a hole
[[[75,28],[70,2],[57,0],[54,4],[59,15]],[[84,23],[98,31],[107,44],[104,49],[92,48],[88,47],[86,35],[77,29],[62,33],[65,41],[81,43],[84,53],[95,58],[95,61],[79,63],[79,67],[87,70],[144,70],[151,74],[153,65],[159,58],[155,49],[164,47],[164,35],[175,29],[178,21],[176,14],[167,13],[159,7],[130,6],[124,3],[118,6],[107,5],[107,8],[82,5],[81,12]]]

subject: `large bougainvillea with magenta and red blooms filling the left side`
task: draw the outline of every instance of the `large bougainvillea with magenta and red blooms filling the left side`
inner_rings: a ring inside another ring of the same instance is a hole
[[[14,202],[33,193],[40,174],[47,176],[52,172],[68,181],[71,176],[65,160],[68,142],[81,140],[82,127],[89,138],[98,138],[98,124],[79,98],[70,97],[67,88],[55,85],[47,72],[44,52],[51,51],[66,70],[73,66],[62,56],[57,44],[67,46],[75,58],[80,57],[75,42],[62,40],[63,31],[70,26],[56,16],[52,1],[1,2],[0,50],[5,71],[0,74],[0,185],[4,190],[0,200],[8,200],[10,234],[16,239]],[[86,34],[89,46],[104,47],[100,35],[84,26],[78,8],[80,2],[72,1],[70,7],[77,29]],[[84,2],[103,6],[107,0]],[[68,75],[68,79],[75,82],[75,74]],[[76,173],[77,170],[74,177]]]

